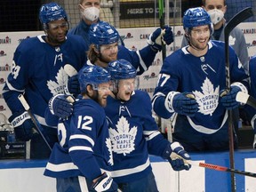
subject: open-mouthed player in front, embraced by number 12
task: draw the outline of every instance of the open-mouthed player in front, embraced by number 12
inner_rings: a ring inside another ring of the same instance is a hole
[[[170,143],[158,131],[148,93],[134,90],[136,70],[131,63],[116,60],[107,69],[113,84],[105,108],[114,159],[112,177],[123,192],[156,192],[148,154],[168,159],[175,171],[189,170],[183,160],[190,157],[179,142]]]

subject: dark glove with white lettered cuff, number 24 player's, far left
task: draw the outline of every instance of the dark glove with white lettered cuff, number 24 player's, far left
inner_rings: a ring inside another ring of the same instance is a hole
[[[33,137],[33,124],[27,111],[21,111],[12,114],[9,118],[11,122],[16,140],[28,141]]]

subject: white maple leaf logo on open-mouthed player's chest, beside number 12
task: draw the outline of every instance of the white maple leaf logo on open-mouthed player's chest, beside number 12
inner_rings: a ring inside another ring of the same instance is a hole
[[[110,139],[112,142],[112,151],[117,154],[129,154],[134,150],[134,140],[137,134],[137,126],[130,129],[130,124],[124,116],[119,118],[116,124],[116,130],[109,129]]]

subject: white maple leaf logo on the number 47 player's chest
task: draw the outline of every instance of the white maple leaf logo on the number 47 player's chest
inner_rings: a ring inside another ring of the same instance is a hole
[[[212,116],[212,113],[219,104],[220,86],[214,90],[212,82],[206,77],[201,88],[203,92],[193,92],[199,105],[198,112]]]

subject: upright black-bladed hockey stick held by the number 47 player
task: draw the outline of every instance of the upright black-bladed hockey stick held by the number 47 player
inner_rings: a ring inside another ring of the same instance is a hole
[[[230,70],[229,70],[229,34],[236,28],[236,26],[242,21],[252,17],[253,12],[251,7],[247,7],[241,12],[238,12],[224,28],[224,39],[225,39],[225,66],[226,66],[226,88],[230,91]],[[234,138],[233,138],[233,119],[232,111],[228,110],[228,137],[229,137],[229,163],[231,169],[234,169]],[[233,192],[236,191],[236,178],[234,172],[231,172],[231,189]]]

